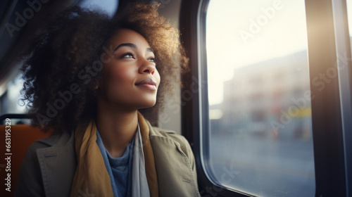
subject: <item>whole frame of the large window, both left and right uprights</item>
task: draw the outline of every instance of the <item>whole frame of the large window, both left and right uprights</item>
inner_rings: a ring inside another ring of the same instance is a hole
[[[194,151],[202,196],[251,196],[213,184],[206,175],[206,164],[201,159],[201,128],[208,124],[201,121],[208,117],[207,101],[202,103],[201,100],[201,94],[208,94],[206,75],[199,75],[206,73],[207,68],[206,49],[201,47],[206,46],[206,35],[201,32],[206,31],[205,19],[209,1],[184,0],[180,10],[181,40],[190,58],[190,72],[182,75],[182,93],[191,93],[191,99],[182,105],[182,134],[189,140]],[[322,91],[313,84],[313,79],[319,73],[339,66],[337,52],[347,51],[347,56],[351,58],[349,36],[346,36],[346,1],[306,0],[305,4],[310,90],[315,95],[311,102],[315,196],[348,196],[352,192],[348,191],[352,189],[352,169],[348,167],[352,165],[352,94],[351,86],[344,83],[352,84],[351,61],[348,61],[347,70],[339,70],[339,76],[331,79]],[[341,17],[343,21],[339,22]],[[342,31],[335,28],[342,28]],[[196,91],[195,86],[198,87]],[[347,110],[342,110],[343,108]],[[211,192],[208,192],[209,189]]]

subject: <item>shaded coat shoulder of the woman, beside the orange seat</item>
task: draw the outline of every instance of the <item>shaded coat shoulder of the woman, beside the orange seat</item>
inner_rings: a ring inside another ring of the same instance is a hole
[[[73,177],[74,170],[73,133],[39,139],[25,153],[18,173],[15,196],[45,196],[45,192],[51,191],[48,189],[49,184],[51,189],[57,185],[52,186],[51,181],[60,179],[57,177]]]

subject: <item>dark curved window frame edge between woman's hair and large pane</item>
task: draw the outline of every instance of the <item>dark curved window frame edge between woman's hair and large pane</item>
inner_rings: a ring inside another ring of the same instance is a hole
[[[201,127],[205,127],[206,122],[201,123],[200,106],[203,110],[203,118],[208,117],[207,102],[200,103],[201,94],[208,94],[206,75],[199,77],[199,70],[206,73],[206,49],[200,47],[200,43],[206,44],[205,34],[200,32],[206,31],[206,10],[208,8],[208,0],[182,1],[180,10],[180,30],[181,40],[184,48],[188,52],[190,72],[182,75],[182,92],[191,93],[191,100],[182,105],[182,135],[190,142],[194,157],[196,159],[196,170],[199,183],[199,192],[201,196],[234,196],[245,197],[251,196],[240,191],[231,191],[221,186],[213,184],[206,175],[201,162]],[[203,20],[202,20],[203,18]],[[203,66],[200,66],[203,65]],[[198,81],[194,81],[198,80]],[[203,83],[202,83],[203,82]],[[196,90],[194,87],[196,86]],[[201,123],[201,124],[200,124]],[[193,132],[194,131],[194,132]]]

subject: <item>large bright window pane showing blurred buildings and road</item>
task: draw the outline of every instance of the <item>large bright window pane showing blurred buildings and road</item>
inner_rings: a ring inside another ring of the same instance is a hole
[[[213,184],[315,195],[307,46],[303,0],[209,1],[201,155]]]

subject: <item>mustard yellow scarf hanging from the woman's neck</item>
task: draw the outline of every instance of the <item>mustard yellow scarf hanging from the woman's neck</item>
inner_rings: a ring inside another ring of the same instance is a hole
[[[150,196],[158,197],[158,179],[156,177],[153,149],[149,140],[149,125],[140,113],[138,113],[138,122],[142,134],[146,179]],[[111,179],[99,146],[96,144],[96,124],[94,120],[89,122],[85,132],[81,132],[80,129],[75,130],[75,149],[77,169],[70,196],[113,196]]]

